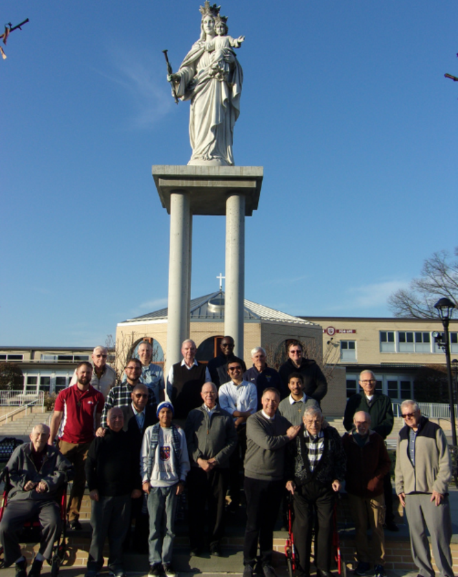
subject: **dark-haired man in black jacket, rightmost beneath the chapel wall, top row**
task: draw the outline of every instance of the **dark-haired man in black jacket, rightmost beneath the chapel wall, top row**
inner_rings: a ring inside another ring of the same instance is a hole
[[[300,342],[291,341],[287,350],[290,358],[279,369],[285,390],[288,390],[291,373],[301,373],[304,378],[305,395],[321,403],[327,393],[327,381],[320,367],[316,361],[303,357],[303,347]]]

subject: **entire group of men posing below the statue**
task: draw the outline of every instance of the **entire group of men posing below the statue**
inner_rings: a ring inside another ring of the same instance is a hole
[[[164,379],[162,368],[151,363],[151,344],[142,342],[140,358],[127,361],[120,384],[103,347],[94,349],[92,364],[78,364],[74,384],[56,399],[51,428],[34,429],[31,443],[17,448],[8,463],[13,488],[0,523],[6,566],[16,563],[17,576],[26,577],[15,531],[38,512],[43,542],[29,576],[39,577],[60,525],[53,497],[73,465],[72,529],[81,527],[86,483],[92,500],[87,577],[100,571],[107,537],[109,571],[124,576],[122,549],[129,545],[132,519],[133,542],[148,547],[149,576],[174,576],[175,516],[185,488],[190,555],[203,554],[206,541],[210,555],[221,555],[226,514],[241,505],[242,476],[243,577],[256,571],[275,576],[273,531],[287,494],[294,507],[296,577],[309,577],[314,523],[318,577],[330,577],[334,503],[344,482],[356,527],[354,573],[383,577],[384,528],[397,530],[384,443],[393,411],[389,397],[375,392],[375,375],[361,373],[361,392],[347,401],[348,432],[341,438],[320,409],[326,379],[315,361],[303,357],[301,343],[290,342],[278,373],[267,365],[263,348],[252,350],[248,370],[233,350],[232,337],[223,337],[221,353],[207,366],[195,359],[197,348],[187,339],[182,362]],[[406,426],[397,443],[395,487],[406,508],[413,558],[420,577],[433,577],[428,527],[441,577],[452,577],[447,441],[415,401],[401,408]]]

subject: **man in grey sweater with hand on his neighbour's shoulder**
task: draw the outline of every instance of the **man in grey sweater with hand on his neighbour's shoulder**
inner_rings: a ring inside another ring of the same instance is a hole
[[[274,525],[279,513],[285,445],[301,429],[291,426],[285,417],[276,414],[280,393],[266,388],[261,398],[262,410],[248,417],[245,454],[245,495],[247,523],[243,541],[243,577],[252,577],[259,540],[260,563],[264,577],[275,577],[272,569]]]

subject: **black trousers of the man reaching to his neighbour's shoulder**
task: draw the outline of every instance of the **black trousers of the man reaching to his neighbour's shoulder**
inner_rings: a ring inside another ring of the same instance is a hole
[[[243,540],[243,565],[254,567],[258,540],[261,565],[270,565],[274,525],[279,514],[283,481],[259,481],[245,477],[246,530]]]

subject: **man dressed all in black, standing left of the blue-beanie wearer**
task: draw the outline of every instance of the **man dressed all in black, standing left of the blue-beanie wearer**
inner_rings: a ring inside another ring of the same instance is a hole
[[[109,536],[108,567],[112,577],[125,577],[122,543],[129,528],[131,498],[142,496],[138,456],[129,435],[122,430],[124,415],[113,407],[107,415],[108,429],[92,442],[85,465],[92,500],[92,541],[86,577],[96,577],[103,565],[103,545]]]

